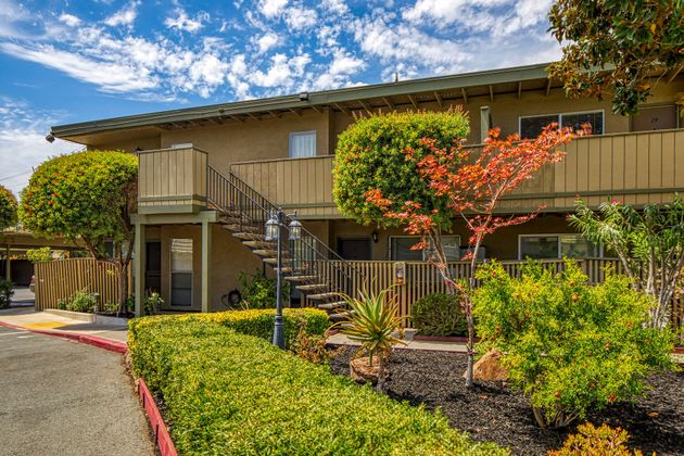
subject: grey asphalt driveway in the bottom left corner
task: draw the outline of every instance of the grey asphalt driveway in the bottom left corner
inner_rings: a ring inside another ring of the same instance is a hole
[[[123,357],[0,327],[0,453],[154,455]]]

